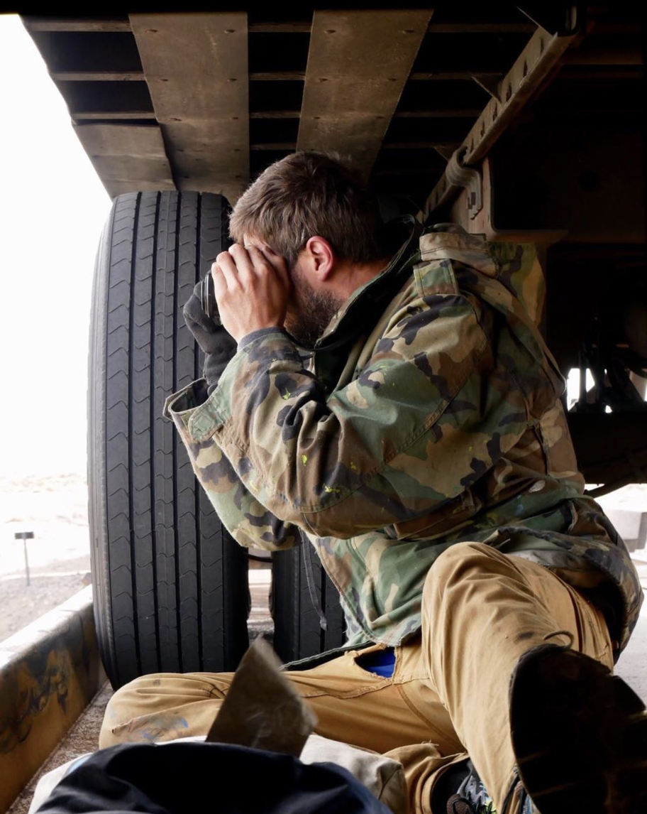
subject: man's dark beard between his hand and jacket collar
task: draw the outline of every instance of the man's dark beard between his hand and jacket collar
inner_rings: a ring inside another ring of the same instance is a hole
[[[315,291],[297,265],[290,269],[289,274],[292,291],[285,316],[285,330],[302,348],[314,348],[344,300],[332,294],[332,291]]]

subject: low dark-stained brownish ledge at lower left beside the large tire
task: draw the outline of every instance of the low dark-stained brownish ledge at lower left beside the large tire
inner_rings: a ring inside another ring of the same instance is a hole
[[[0,814],[105,681],[91,587],[0,644]]]

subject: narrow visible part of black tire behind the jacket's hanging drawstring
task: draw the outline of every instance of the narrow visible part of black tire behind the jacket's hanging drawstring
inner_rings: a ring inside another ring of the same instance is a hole
[[[345,619],[339,593],[311,548],[308,540],[303,540],[302,545],[294,549],[273,554],[274,649],[284,662],[333,650],[345,641]],[[310,562],[306,562],[306,557]],[[310,596],[308,568],[312,575],[312,589],[326,620],[325,630]]]

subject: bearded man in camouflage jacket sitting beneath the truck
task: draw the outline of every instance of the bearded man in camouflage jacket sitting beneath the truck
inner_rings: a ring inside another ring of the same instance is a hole
[[[644,707],[610,676],[640,584],[517,295],[529,247],[394,228],[327,155],[267,168],[212,268],[224,328],[189,304],[206,379],[167,414],[241,545],[315,546],[350,642],[286,675],[318,733],[402,762],[412,811],[647,811]],[[206,733],[230,682],[137,679],[102,746]]]

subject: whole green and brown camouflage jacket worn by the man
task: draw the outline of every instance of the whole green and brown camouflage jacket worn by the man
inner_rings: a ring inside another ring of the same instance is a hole
[[[211,396],[200,380],[167,400],[193,469],[241,545],[283,549],[306,532],[352,643],[410,637],[436,557],[480,540],[592,592],[617,655],[640,583],[583,494],[563,379],[531,316],[535,253],[407,228],[309,360],[263,330]]]

